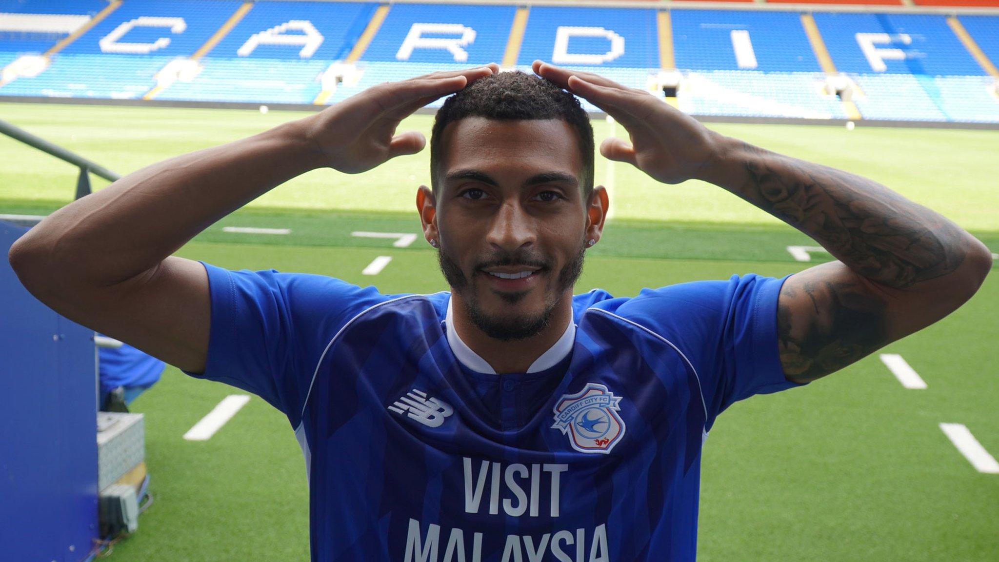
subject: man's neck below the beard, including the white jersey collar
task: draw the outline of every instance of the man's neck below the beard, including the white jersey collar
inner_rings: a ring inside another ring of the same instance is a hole
[[[540,332],[522,340],[502,341],[476,326],[458,294],[452,292],[451,298],[452,322],[458,336],[498,374],[527,372],[531,364],[558,341],[572,321],[572,294],[566,292],[551,311],[551,321]]]

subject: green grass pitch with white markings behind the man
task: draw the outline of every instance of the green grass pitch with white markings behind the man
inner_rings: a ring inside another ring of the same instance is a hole
[[[245,110],[0,104],[0,118],[120,173],[234,140],[304,114]],[[409,126],[429,132],[429,116]],[[609,126],[594,121],[597,140]],[[860,173],[956,220],[999,251],[999,132],[788,125],[712,125],[765,148]],[[620,133],[618,129],[617,133]],[[0,138],[0,213],[65,204],[76,171]],[[212,226],[178,254],[231,269],[275,268],[375,284],[384,292],[445,289],[422,241],[355,238],[356,230],[419,232],[415,189],[425,153],[370,173],[316,171]],[[579,291],[785,275],[807,264],[788,245],[805,236],[718,188],[655,184],[621,164],[614,218],[588,254]],[[95,180],[95,187],[106,184]],[[288,236],[224,226],[291,228]],[[361,270],[393,261],[377,276]],[[815,260],[829,259],[816,255]],[[806,388],[737,403],[718,418],[702,463],[699,560],[999,559],[999,475],[981,474],[938,427],[966,425],[999,456],[999,278],[964,307],[883,350],[927,382],[906,390],[877,354]],[[306,560],[305,462],[287,419],[253,398],[212,439],[182,435],[223,397],[242,393],[170,367],[132,410],[146,414],[154,503],[112,561]]]

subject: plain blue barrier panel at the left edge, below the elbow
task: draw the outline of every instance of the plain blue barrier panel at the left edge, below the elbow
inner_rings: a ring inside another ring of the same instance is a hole
[[[99,537],[97,348],[11,269],[27,230],[0,221],[0,560],[80,562]]]

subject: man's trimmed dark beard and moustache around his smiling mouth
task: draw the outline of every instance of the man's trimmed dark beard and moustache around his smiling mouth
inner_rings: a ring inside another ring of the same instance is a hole
[[[545,295],[544,309],[538,314],[514,314],[512,316],[490,315],[483,310],[477,297],[477,292],[473,283],[466,277],[458,262],[451,257],[445,249],[444,241],[438,249],[438,262],[441,264],[441,271],[445,279],[451,285],[452,291],[462,295],[462,302],[465,303],[465,310],[469,318],[486,335],[500,341],[522,340],[537,335],[548,327],[551,323],[551,314],[558,299],[565,290],[575,285],[575,281],[582,273],[582,261],[585,254],[585,241],[579,241],[579,248],[576,250],[571,260],[558,271],[554,293]],[[488,267],[499,267],[508,265],[525,265],[537,267],[538,273],[551,271],[551,262],[543,256],[529,252],[497,253],[484,260],[473,269],[475,272],[483,272]],[[485,273],[489,275],[488,273]],[[474,274],[475,275],[475,274]],[[526,296],[526,292],[519,293],[498,293],[500,299],[508,304],[516,304]]]

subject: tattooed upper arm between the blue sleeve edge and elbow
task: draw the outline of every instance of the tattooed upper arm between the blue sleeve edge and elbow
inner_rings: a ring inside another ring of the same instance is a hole
[[[777,346],[784,374],[807,382],[838,371],[888,343],[885,303],[858,281],[808,273],[788,280],[777,307]],[[792,304],[813,307],[792,314]]]

